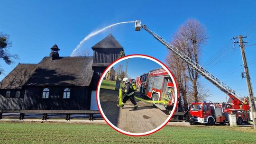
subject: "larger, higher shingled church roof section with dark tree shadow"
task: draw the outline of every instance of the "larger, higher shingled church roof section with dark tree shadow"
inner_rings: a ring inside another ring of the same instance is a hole
[[[89,86],[93,75],[93,57],[45,57],[26,85]]]

